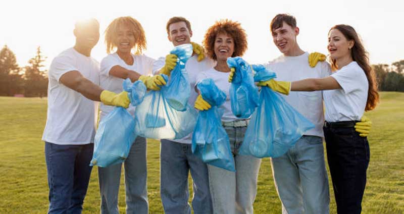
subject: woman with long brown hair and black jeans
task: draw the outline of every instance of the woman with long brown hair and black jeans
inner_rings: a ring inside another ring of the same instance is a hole
[[[355,131],[365,111],[379,102],[375,72],[358,33],[335,25],[327,49],[334,72],[329,77],[294,82],[261,82],[276,91],[323,91],[324,136],[338,213],[361,213],[369,165],[369,143]]]

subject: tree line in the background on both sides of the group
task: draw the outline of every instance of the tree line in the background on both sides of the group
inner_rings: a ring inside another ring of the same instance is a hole
[[[0,51],[0,96],[47,96],[47,70],[43,65],[45,59],[38,46],[36,55],[28,61],[28,65],[20,67],[14,52],[4,45]],[[404,92],[404,60],[372,67],[380,91]]]

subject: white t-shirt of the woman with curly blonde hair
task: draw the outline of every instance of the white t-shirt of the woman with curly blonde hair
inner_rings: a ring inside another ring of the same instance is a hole
[[[121,66],[128,70],[135,71],[141,75],[151,75],[155,60],[145,55],[131,55],[133,57],[133,65],[127,65],[116,52],[109,54],[101,61],[101,69],[99,72],[100,87],[115,93],[121,93],[123,91],[122,83],[124,79],[110,75],[110,71],[114,66]],[[100,120],[103,119],[104,116],[108,115],[108,113],[110,113],[113,109],[114,106],[101,103]],[[129,105],[128,112],[131,115],[134,115],[135,109],[135,106]]]

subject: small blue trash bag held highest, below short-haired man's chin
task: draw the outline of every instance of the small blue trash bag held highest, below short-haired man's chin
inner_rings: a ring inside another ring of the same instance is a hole
[[[164,96],[172,108],[178,111],[185,111],[191,91],[185,63],[192,56],[192,45],[178,45],[170,53],[177,55],[178,60],[177,65],[171,71],[170,80],[164,90]]]

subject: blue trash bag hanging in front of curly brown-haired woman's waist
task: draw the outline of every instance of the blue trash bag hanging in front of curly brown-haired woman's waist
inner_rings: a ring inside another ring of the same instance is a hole
[[[229,137],[221,122],[224,110],[219,109],[226,101],[226,94],[210,78],[199,82],[197,88],[212,108],[198,113],[192,134],[192,153],[204,163],[235,172]]]

